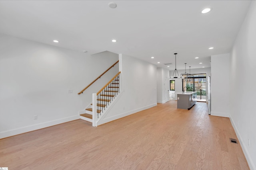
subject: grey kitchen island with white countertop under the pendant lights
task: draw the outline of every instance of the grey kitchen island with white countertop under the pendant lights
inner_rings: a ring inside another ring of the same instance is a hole
[[[178,109],[190,109],[196,104],[197,92],[177,92],[177,108]]]

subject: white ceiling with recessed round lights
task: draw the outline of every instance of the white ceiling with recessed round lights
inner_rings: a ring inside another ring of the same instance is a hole
[[[81,53],[122,53],[163,68],[178,53],[177,69],[184,63],[193,69],[230,52],[249,6],[246,0],[0,0],[0,32]],[[202,14],[206,7],[212,10]]]

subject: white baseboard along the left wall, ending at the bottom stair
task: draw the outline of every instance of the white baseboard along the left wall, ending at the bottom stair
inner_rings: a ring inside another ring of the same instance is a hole
[[[10,136],[14,136],[14,135],[18,135],[18,134],[21,134],[21,133],[26,133],[26,132],[42,129],[42,128],[45,128],[45,127],[50,127],[50,126],[53,126],[53,125],[58,125],[60,123],[65,123],[65,122],[73,121],[73,120],[76,120],[76,119],[80,119],[80,115],[64,117],[64,118],[61,118],[61,119],[55,119],[55,120],[52,120],[52,121],[46,121],[46,122],[37,123],[37,124],[34,124],[34,125],[28,125],[28,126],[24,126],[24,127],[15,128],[15,129],[10,129],[10,130],[7,130],[7,131],[2,131],[2,132],[0,132],[0,139],[10,137]]]

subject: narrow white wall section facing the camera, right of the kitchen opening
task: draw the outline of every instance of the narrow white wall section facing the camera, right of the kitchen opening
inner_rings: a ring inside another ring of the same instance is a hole
[[[230,117],[230,54],[211,56],[211,115]]]

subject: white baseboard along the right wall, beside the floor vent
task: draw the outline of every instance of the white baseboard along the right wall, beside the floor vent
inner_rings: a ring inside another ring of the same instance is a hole
[[[245,143],[244,143],[244,141],[243,141],[243,139],[242,139],[242,137],[241,137],[241,135],[240,135],[240,133],[239,133],[237,127],[236,127],[236,124],[234,123],[234,120],[232,119],[231,115],[230,115],[230,121],[231,121],[231,124],[232,124],[232,126],[235,130],[236,136],[238,137],[238,141],[241,144],[242,150],[244,152],[244,156],[246,157],[246,160],[248,162],[248,165],[249,165],[250,169],[251,170],[256,170],[256,166],[254,165],[254,163],[252,161],[252,158],[251,158],[248,150],[246,149],[246,145],[245,145]]]

